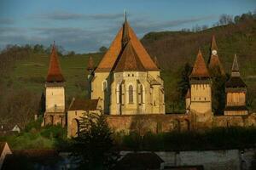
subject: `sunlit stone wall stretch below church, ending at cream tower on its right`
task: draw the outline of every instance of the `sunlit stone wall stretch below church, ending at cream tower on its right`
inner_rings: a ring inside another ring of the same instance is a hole
[[[107,116],[107,121],[114,131],[125,133],[130,131],[140,133],[148,131],[153,133],[172,130],[184,131],[191,127],[190,116],[187,114]]]

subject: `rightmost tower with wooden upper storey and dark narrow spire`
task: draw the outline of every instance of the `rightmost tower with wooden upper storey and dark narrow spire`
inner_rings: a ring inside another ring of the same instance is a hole
[[[228,82],[226,82],[226,107],[224,115],[228,116],[238,116],[247,115],[248,110],[246,106],[246,96],[247,96],[247,85],[242,81],[240,77],[239,66],[237,62],[237,56],[235,54],[231,77]]]

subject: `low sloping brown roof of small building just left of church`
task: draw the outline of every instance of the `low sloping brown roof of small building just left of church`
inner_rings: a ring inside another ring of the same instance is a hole
[[[99,99],[74,99],[68,111],[95,111]]]

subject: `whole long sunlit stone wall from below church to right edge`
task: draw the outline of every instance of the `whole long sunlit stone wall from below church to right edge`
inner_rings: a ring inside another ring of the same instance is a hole
[[[202,115],[203,116],[203,115]],[[205,116],[204,116],[205,117]],[[170,132],[173,130],[203,130],[211,127],[250,127],[256,126],[256,113],[247,116],[210,116],[205,122],[198,115],[170,114],[170,115],[131,115],[107,116],[107,121],[114,131],[129,133],[137,131],[145,133]]]

